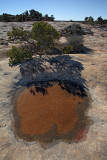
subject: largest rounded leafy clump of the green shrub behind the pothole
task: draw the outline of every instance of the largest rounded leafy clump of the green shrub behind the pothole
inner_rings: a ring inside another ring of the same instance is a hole
[[[40,50],[47,50],[54,47],[54,39],[59,38],[59,33],[50,24],[39,22],[33,24],[32,38],[36,40]]]

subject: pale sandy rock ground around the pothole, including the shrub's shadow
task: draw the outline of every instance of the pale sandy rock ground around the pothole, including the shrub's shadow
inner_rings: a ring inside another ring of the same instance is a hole
[[[0,23],[0,27],[4,29],[6,27],[3,25],[9,28],[10,23]],[[60,29],[68,23],[52,22],[52,25]],[[44,56],[42,59],[35,57],[30,62],[14,67],[9,67],[8,58],[1,58],[0,160],[107,159],[107,37],[106,31],[95,28],[92,30],[93,36],[84,36],[85,46],[92,49],[88,53]],[[4,33],[1,31],[2,37]],[[1,47],[1,52],[4,49],[6,46]],[[75,81],[86,86],[92,99],[86,112],[90,119],[86,137],[78,143],[60,140],[47,147],[15,137],[12,99],[16,90],[31,81],[54,79]]]

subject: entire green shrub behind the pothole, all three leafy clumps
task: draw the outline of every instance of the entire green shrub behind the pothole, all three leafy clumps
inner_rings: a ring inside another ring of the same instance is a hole
[[[12,27],[12,31],[7,32],[9,40],[17,40],[24,42],[23,48],[17,49],[13,47],[8,52],[10,57],[9,64],[22,62],[25,59],[31,58],[33,53],[38,53],[43,50],[54,47],[54,40],[59,38],[59,32],[46,22],[34,23],[32,31],[24,30],[23,27]]]

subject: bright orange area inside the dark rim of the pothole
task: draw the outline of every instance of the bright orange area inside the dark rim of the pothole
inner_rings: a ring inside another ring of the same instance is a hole
[[[21,134],[39,135],[47,133],[53,125],[57,126],[57,135],[71,131],[79,120],[77,105],[83,101],[77,95],[74,96],[66,90],[62,90],[58,84],[47,89],[48,94],[30,90],[34,86],[22,92],[17,99],[17,113],[21,118]]]

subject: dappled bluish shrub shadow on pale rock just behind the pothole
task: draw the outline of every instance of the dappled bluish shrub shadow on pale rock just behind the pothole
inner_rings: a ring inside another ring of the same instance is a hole
[[[19,84],[26,85],[35,81],[69,80],[84,85],[81,77],[83,66],[69,55],[36,57],[20,65],[22,78]]]

